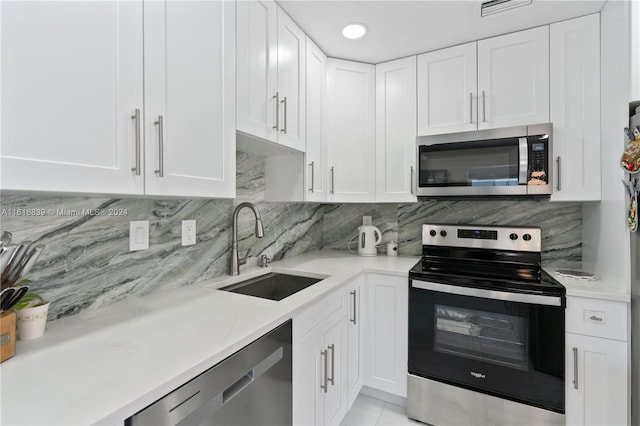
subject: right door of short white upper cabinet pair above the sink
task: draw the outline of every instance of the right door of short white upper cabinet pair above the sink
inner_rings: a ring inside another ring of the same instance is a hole
[[[305,149],[305,34],[278,8],[278,143]]]

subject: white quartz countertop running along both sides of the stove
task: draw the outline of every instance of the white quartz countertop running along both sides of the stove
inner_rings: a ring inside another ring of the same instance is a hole
[[[357,275],[407,276],[418,259],[313,252],[53,321],[0,364],[0,423],[122,425]],[[269,271],[328,278],[277,302],[217,290]],[[598,281],[559,281],[568,295],[629,298]]]

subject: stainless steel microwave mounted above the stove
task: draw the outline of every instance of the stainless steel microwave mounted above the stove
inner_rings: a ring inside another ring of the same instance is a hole
[[[551,123],[417,138],[419,197],[549,195]]]

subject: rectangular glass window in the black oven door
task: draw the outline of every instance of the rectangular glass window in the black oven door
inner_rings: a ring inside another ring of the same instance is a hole
[[[436,352],[509,368],[529,368],[527,318],[435,305]]]

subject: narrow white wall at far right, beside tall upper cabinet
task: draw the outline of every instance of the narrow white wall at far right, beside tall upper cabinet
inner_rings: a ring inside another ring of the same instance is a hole
[[[607,281],[629,288],[629,232],[619,166],[628,125],[629,2],[609,1],[601,12],[602,201],[583,207],[582,263]]]

